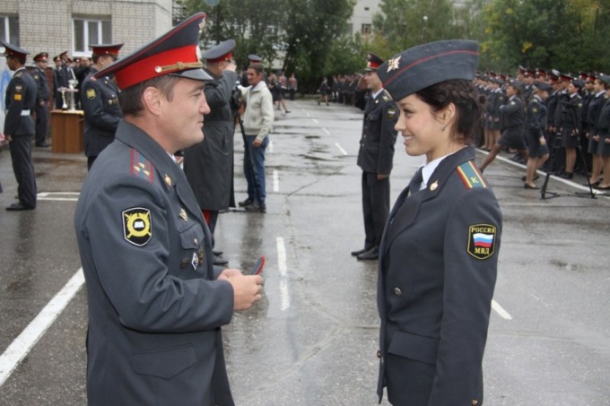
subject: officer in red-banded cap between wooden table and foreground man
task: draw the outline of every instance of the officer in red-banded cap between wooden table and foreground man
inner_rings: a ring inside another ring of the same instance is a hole
[[[118,59],[118,51],[123,44],[90,45],[93,51],[93,65],[83,82],[81,103],[84,111],[84,154],[87,168],[109,143],[114,141],[118,122],[123,117],[118,105],[118,88],[109,76],[94,74],[112,65]]]

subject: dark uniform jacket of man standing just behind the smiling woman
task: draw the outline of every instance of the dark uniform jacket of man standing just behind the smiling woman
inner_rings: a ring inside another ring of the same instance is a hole
[[[358,166],[362,171],[389,175],[394,163],[394,144],[398,120],[398,108],[388,92],[383,90],[370,99],[364,108],[364,123]]]

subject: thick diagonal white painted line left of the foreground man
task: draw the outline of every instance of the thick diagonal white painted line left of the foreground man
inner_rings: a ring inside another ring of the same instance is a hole
[[[52,298],[47,306],[31,321],[21,334],[0,355],[0,386],[4,384],[23,358],[36,345],[42,334],[53,324],[57,316],[65,309],[76,292],[83,286],[83,268],[79,269],[68,281],[55,298]]]

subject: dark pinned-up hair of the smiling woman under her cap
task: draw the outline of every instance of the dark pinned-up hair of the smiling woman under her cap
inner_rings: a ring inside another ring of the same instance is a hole
[[[480,96],[475,83],[462,79],[433,84],[415,95],[431,106],[433,112],[456,106],[456,119],[452,134],[464,134],[464,143],[476,142],[476,129],[483,113],[484,96]]]

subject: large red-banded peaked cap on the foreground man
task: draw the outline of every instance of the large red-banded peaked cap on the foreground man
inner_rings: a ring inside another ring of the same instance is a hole
[[[195,81],[211,81],[212,77],[204,72],[200,61],[199,35],[204,24],[205,13],[196,13],[94,76],[100,79],[114,74],[120,89],[166,74]]]

